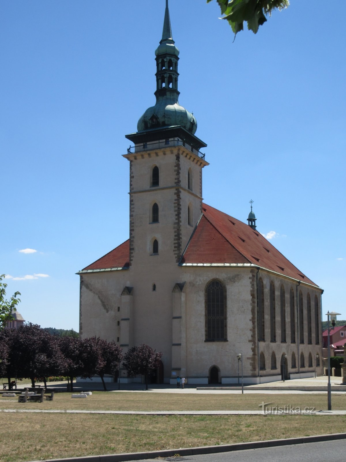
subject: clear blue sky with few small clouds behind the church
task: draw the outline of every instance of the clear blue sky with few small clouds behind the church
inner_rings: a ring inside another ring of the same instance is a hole
[[[246,221],[253,199],[257,229],[346,319],[346,2],[292,0],[234,43],[216,0],[169,5],[204,201]],[[0,273],[27,321],[78,330],[75,273],[128,238],[124,135],[155,103],[164,8],[1,2]]]

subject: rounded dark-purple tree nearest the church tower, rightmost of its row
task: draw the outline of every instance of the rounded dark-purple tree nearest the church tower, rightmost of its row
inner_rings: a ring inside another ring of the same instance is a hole
[[[148,375],[160,365],[162,353],[156,353],[149,345],[132,346],[125,354],[123,366],[129,376],[141,374],[145,377],[145,389],[148,389]]]

